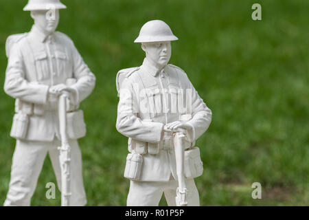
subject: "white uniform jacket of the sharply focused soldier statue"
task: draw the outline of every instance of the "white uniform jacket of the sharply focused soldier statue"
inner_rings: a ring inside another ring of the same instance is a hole
[[[192,129],[187,140],[195,142],[209,127],[211,110],[198,96],[185,72],[174,65],[162,70],[147,58],[141,67],[129,72],[119,91],[117,130],[133,140],[161,143],[164,124],[185,120]],[[174,151],[143,155],[141,181],[176,179]]]

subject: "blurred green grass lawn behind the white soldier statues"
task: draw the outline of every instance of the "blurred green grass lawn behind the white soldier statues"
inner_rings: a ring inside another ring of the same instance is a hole
[[[0,1],[0,83],[5,39],[32,26],[27,1]],[[89,206],[125,206],[126,137],[117,133],[115,76],[144,58],[133,43],[141,25],[168,23],[179,41],[170,63],[185,69],[213,111],[197,142],[204,174],[196,178],[202,206],[309,205],[309,1],[62,0],[58,30],[68,34],[97,77],[81,107],[88,125],[80,140]],[[262,21],[251,5],[262,5]],[[14,100],[0,90],[0,203],[10,181],[15,140],[9,137]],[[33,206],[60,205],[45,198],[56,179],[46,159]],[[262,184],[262,199],[251,184]],[[166,205],[162,199],[161,205]]]

